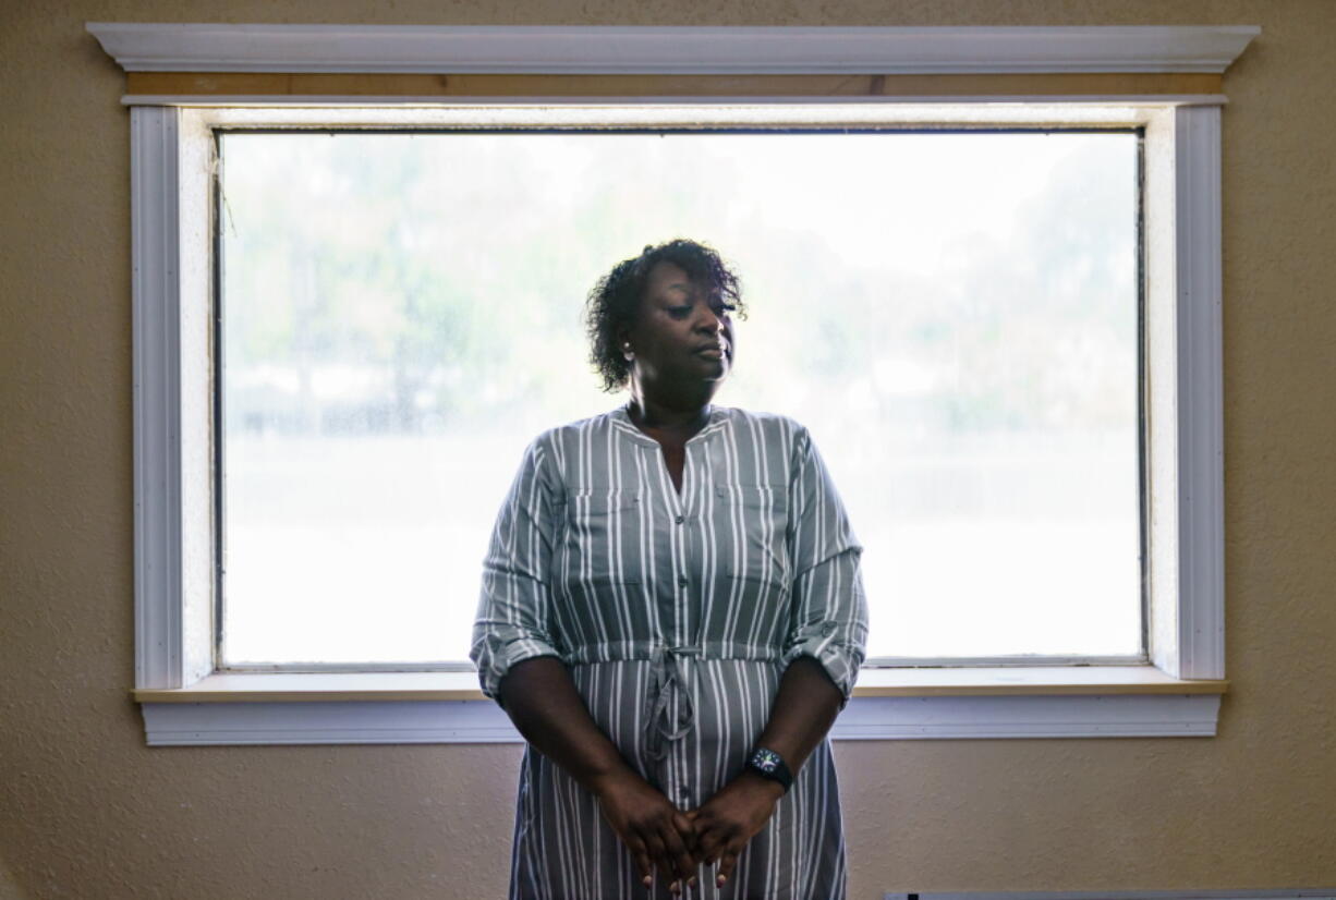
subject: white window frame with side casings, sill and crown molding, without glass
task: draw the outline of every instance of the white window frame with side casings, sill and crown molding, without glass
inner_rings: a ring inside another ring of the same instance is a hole
[[[108,23],[91,23],[88,29],[127,71],[864,75],[1222,72],[1260,32],[1255,27],[401,28]],[[831,736],[1213,736],[1226,689],[1220,358],[1224,97],[1011,99],[1054,104],[1102,100],[1149,109],[1145,401],[1150,664],[864,668],[855,697]],[[426,100],[374,99],[383,104]],[[926,108],[922,97],[878,100]],[[330,104],[331,111],[341,104],[367,104],[366,97],[286,101],[318,101]],[[441,97],[430,101],[444,103]],[[505,713],[482,697],[470,672],[214,670],[208,140],[199,131],[207,116],[191,109],[206,104],[273,107],[285,99],[127,96],[126,103],[131,107],[135,354],[132,693],[142,704],[148,744],[521,741]],[[449,105],[460,104],[449,99]]]

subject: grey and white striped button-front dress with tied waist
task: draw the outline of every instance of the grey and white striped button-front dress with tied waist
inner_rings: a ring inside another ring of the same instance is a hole
[[[680,809],[736,776],[794,658],[848,700],[867,605],[859,546],[811,437],[782,415],[715,406],[685,446],[681,493],[659,443],[617,409],[524,454],[484,564],[470,656],[482,692],[556,656],[623,757]],[[512,899],[669,897],[640,884],[595,797],[526,748]],[[828,740],[739,856],[723,889],[684,897],[844,897]]]

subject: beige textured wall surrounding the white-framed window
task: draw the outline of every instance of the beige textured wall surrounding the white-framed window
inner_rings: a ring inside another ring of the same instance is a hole
[[[144,746],[128,115],[87,20],[1261,25],[1225,80],[1220,736],[836,753],[851,897],[1336,885],[1336,1],[3,0],[0,893],[500,897],[520,754]]]

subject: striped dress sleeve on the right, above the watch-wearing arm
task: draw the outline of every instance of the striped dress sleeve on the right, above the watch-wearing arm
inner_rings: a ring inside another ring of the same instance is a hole
[[[867,653],[867,598],[858,543],[844,505],[807,429],[794,441],[788,558],[792,606],[783,665],[810,656],[848,702]]]

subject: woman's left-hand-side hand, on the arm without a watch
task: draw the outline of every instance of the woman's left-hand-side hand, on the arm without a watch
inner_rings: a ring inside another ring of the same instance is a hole
[[[593,795],[603,817],[636,860],[647,888],[653,884],[651,865],[673,877],[668,888],[673,893],[681,893],[681,880],[695,887],[695,832],[691,820],[668,797],[629,769],[597,781]]]

